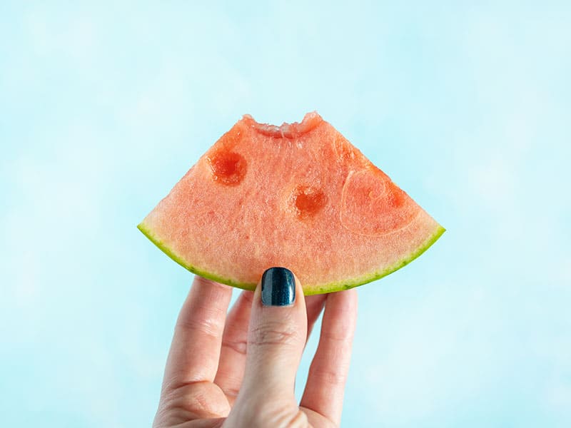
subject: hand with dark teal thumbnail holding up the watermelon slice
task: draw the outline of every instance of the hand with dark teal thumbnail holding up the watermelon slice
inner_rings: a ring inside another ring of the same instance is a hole
[[[153,427],[338,427],[356,291],[300,298],[293,274],[273,267],[227,315],[231,295],[231,287],[195,277],[176,323]],[[324,305],[298,404],[295,373]]]

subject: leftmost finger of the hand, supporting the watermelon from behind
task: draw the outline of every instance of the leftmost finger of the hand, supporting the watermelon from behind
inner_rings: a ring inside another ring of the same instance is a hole
[[[198,275],[194,277],[176,321],[163,389],[213,382],[231,297],[231,287]]]

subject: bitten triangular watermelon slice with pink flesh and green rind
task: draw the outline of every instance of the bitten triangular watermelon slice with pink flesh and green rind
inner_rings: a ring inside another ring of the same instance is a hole
[[[444,232],[318,113],[282,126],[244,116],[138,228],[203,277],[253,290],[284,266],[306,295],[388,275]]]

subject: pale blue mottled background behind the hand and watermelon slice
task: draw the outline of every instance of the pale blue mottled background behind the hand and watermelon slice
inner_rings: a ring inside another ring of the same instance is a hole
[[[569,3],[200,3],[0,4],[0,425],[150,425],[191,275],[136,224],[317,110],[448,229],[360,288],[343,426],[571,426]]]

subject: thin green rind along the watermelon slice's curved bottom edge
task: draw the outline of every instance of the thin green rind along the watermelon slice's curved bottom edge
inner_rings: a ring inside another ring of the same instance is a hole
[[[168,246],[165,245],[165,243],[163,243],[161,240],[156,238],[156,236],[153,235],[151,230],[146,228],[143,223],[140,223],[139,225],[137,225],[138,230],[141,230],[143,235],[145,235],[149,240],[151,240],[151,242],[153,244],[155,244],[163,253],[168,255],[168,257],[173,259],[176,263],[178,263],[179,265],[184,267],[186,270],[189,270],[190,272],[192,272],[196,275],[199,275],[201,277],[207,278],[208,280],[220,282],[221,284],[231,285],[232,287],[241,288],[243,290],[255,290],[256,289],[256,284],[254,284],[254,283],[236,282],[234,280],[229,280],[228,278],[221,277],[221,276],[216,275],[214,273],[206,272],[205,270],[202,270],[202,269],[195,267],[193,265],[189,265],[181,257],[179,257],[178,255],[173,253],[173,251],[170,248],[168,248]],[[433,243],[435,243],[438,240],[438,238],[440,238],[440,236],[442,236],[443,233],[445,233],[445,231],[446,231],[445,228],[443,228],[441,225],[438,225],[438,228],[435,229],[435,232],[433,233],[433,235],[430,235],[430,237],[427,240],[425,240],[423,245],[419,245],[418,248],[416,248],[408,256],[399,260],[394,265],[391,265],[389,267],[385,267],[385,269],[383,269],[383,270],[373,272],[373,273],[367,273],[361,277],[353,278],[351,280],[345,280],[345,281],[340,281],[340,282],[330,282],[330,283],[325,284],[325,285],[319,285],[318,287],[315,287],[314,285],[309,285],[309,284],[303,285],[303,294],[307,296],[307,295],[323,294],[323,293],[335,292],[335,291],[341,291],[341,290],[349,290],[350,288],[358,287],[360,285],[367,284],[368,282],[373,282],[375,280],[379,280],[380,278],[385,277],[385,276],[389,275],[390,273],[395,272],[396,270],[399,270],[401,267],[408,265],[408,263],[415,260],[415,258],[418,258],[418,256],[420,256],[422,253],[424,253],[426,250],[428,250],[428,248],[430,248],[430,246],[433,245]]]

